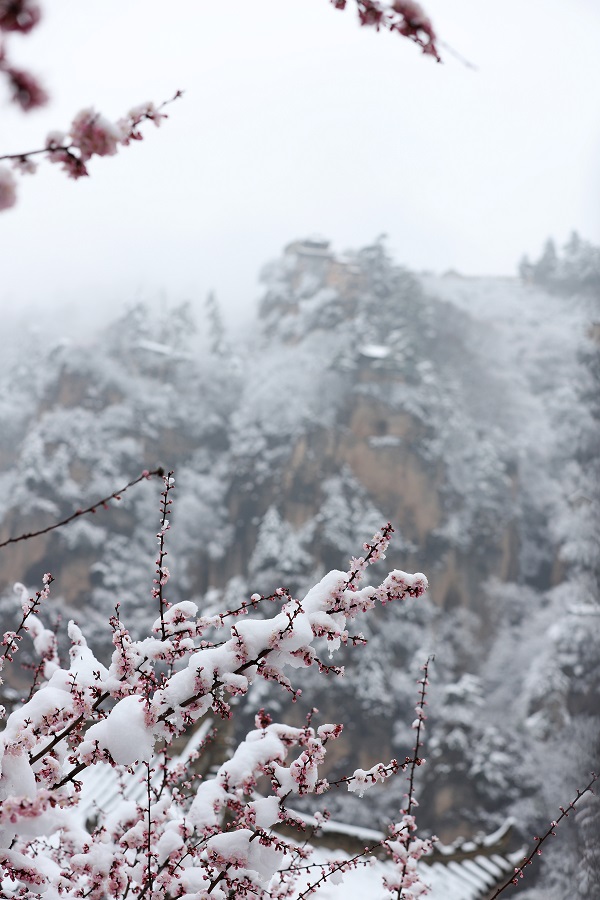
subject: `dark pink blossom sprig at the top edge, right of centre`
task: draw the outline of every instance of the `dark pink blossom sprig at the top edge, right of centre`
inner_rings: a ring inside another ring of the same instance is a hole
[[[348,0],[330,0],[336,9],[346,9]],[[356,0],[358,18],[361,25],[367,25],[379,31],[388,31],[402,35],[441,62],[436,44],[436,34],[431,19],[419,3],[413,0]]]

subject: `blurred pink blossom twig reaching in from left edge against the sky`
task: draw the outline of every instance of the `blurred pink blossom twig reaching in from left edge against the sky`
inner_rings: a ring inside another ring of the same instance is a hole
[[[37,163],[33,157],[41,156],[58,164],[69,178],[83,178],[89,175],[88,163],[95,156],[114,156],[119,147],[126,147],[132,141],[141,141],[141,125],[150,121],[158,127],[168,118],[163,112],[165,106],[182,96],[177,91],[170,99],[155,106],[143,103],[131,109],[126,116],[112,122],[94,109],[83,109],[77,113],[68,132],[52,131],[46,138],[45,146],[24,153],[0,156],[1,160],[12,163],[21,174],[33,174]],[[15,178],[9,168],[0,166],[0,211],[14,206],[17,200]]]

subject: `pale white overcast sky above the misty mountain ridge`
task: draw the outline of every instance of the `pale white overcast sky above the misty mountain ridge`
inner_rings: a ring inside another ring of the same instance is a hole
[[[600,3],[424,0],[444,64],[328,0],[60,0],[11,55],[51,103],[0,98],[0,152],[82,107],[186,91],[147,139],[69,181],[40,166],[0,214],[0,306],[159,293],[229,310],[290,240],[382,232],[414,269],[513,274],[572,229],[600,243]]]

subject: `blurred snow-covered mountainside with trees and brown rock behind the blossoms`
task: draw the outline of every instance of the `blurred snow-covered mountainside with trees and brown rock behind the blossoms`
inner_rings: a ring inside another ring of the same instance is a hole
[[[172,601],[209,611],[284,585],[301,594],[388,520],[381,565],[428,595],[363,628],[368,643],[306,708],[347,713],[343,772],[404,758],[419,667],[435,654],[420,822],[449,841],[508,816],[529,839],[598,765],[600,251],[574,236],[519,277],[412,273],[382,241],[335,255],[289,244],[265,266],[256,319],[232,333],[218,299],[137,303],[84,338],[40,327],[0,375],[0,540],[173,469]],[[52,614],[97,646],[121,604],[151,625],[156,492],[4,550],[14,581],[56,578]],[[360,665],[357,664],[357,657]],[[280,689],[249,708],[277,710]],[[378,826],[403,784],[339,818]],[[598,811],[548,854],[534,898],[593,896]]]

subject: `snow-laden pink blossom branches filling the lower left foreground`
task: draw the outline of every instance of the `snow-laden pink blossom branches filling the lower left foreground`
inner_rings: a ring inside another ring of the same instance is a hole
[[[158,616],[148,636],[134,639],[117,606],[110,620],[110,659],[99,659],[71,621],[69,660],[63,663],[54,633],[40,618],[51,576],[34,597],[19,588],[22,621],[4,637],[5,661],[27,633],[40,663],[33,690],[0,733],[0,878],[6,898],[308,896],[315,882],[306,886],[310,848],[306,824],[292,808],[294,797],[344,786],[361,794],[413,762],[407,757],[402,764],[376,763],[329,783],[322,769],[342,725],[314,724],[313,710],[305,725],[292,727],[261,709],[231,758],[202,776],[197,763],[206,742],[196,735],[209,719],[234,713],[232,697],[262,678],[295,698],[300,692],[293,673],[311,665],[324,675],[341,674],[341,668],[321,662],[322,650],[352,645],[352,620],[377,602],[418,598],[427,579],[395,571],[379,586],[363,584],[367,567],[385,555],[392,533],[387,525],[365,545],[364,557],[352,560],[347,571],[328,573],[301,599],[279,590],[270,597],[254,594],[217,615],[199,615],[195,603],[171,604],[163,595],[174,484],[172,473],[164,475],[152,587]],[[257,608],[265,612],[266,601],[276,608],[261,617]],[[182,739],[193,745],[183,762],[173,749]],[[80,808],[82,785],[90,771],[99,770],[114,774],[121,794],[114,807],[90,818]],[[139,790],[131,791],[132,781]],[[407,821],[405,813],[393,826],[388,851],[403,860],[406,847],[412,873],[426,845],[404,841]],[[294,829],[297,840],[284,837],[282,826]],[[317,886],[356,864],[321,865]],[[406,884],[407,879],[408,874]],[[417,894],[413,889],[403,896]]]

